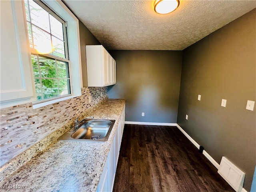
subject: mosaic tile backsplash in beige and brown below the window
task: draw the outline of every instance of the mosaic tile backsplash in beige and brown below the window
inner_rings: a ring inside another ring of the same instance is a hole
[[[1,109],[0,166],[108,98],[106,87],[86,87],[81,91],[79,97],[38,109],[33,109],[32,103]]]

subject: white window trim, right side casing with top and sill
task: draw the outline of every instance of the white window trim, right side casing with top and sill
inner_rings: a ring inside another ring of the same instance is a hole
[[[68,30],[68,51],[70,60],[70,89],[72,89],[71,96],[64,96],[48,101],[32,102],[33,108],[40,108],[49,104],[81,96],[82,85],[82,65],[81,65],[81,52],[80,52],[80,34],[79,34],[79,20],[74,14],[66,7],[60,0],[42,1],[56,14],[67,22]]]

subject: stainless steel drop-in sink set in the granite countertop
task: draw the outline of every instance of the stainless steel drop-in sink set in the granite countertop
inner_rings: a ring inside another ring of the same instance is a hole
[[[115,120],[85,119],[75,132],[66,132],[58,140],[66,141],[107,141]]]

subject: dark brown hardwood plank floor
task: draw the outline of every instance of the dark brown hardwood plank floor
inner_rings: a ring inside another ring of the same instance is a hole
[[[113,192],[234,192],[170,126],[125,125]]]

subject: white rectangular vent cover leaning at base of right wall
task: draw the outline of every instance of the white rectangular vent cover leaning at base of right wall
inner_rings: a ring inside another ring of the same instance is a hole
[[[241,192],[244,185],[245,173],[227,158],[222,157],[218,173],[232,186],[236,192]]]

